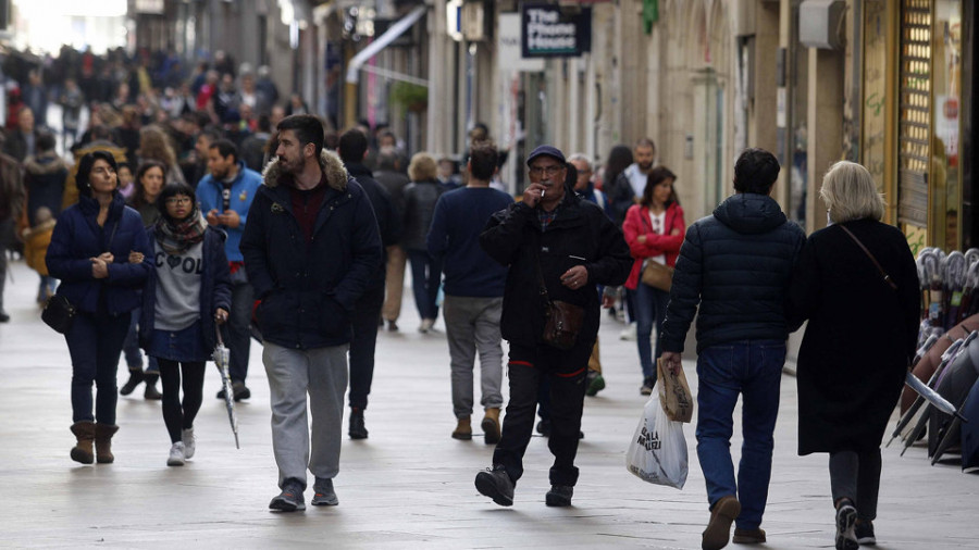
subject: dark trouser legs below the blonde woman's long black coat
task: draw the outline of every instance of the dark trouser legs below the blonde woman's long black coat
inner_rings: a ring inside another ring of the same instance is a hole
[[[880,448],[866,452],[838,451],[830,453],[830,486],[833,504],[850,499],[857,509],[857,517],[877,517],[877,497],[880,493]]]

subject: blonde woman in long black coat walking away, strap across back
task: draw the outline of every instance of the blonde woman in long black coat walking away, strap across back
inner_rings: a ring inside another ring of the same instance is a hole
[[[880,222],[884,203],[864,166],[838,162],[819,193],[832,225],[809,236],[788,297],[793,327],[809,321],[798,453],[830,453],[837,548],[855,549],[873,540],[880,441],[918,336],[918,273],[904,234]]]

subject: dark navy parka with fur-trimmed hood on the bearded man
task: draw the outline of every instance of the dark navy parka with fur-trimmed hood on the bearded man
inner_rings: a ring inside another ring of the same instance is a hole
[[[265,167],[239,249],[262,300],[262,338],[293,349],[348,343],[350,314],[371,275],[383,270],[381,236],[370,199],[339,158],[323,151],[326,195],[307,243],[293,213],[293,176],[275,160]]]

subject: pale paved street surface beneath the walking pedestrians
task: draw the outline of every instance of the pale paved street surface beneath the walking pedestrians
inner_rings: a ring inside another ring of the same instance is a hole
[[[379,334],[365,411],[370,437],[344,435],[339,505],[278,514],[267,505],[277,487],[260,345],[252,342],[251,398],[237,403],[240,449],[224,401],[214,399],[220,382],[208,363],[193,460],[166,466],[160,402],[136,391],[120,398],[115,462],[79,465],[69,458],[67,347],[41,322],[36,290],[34,273],[12,262],[5,291],[12,318],[0,325],[2,548],[699,548],[707,503],[693,434],[697,412],[684,426],[691,460],[682,490],[627,472],[625,449],[646,398],[637,391],[635,345],[619,340],[623,325],[608,315],[599,333],[608,387],[585,401],[572,507],[544,505],[552,457],[541,436],[528,448],[512,508],[476,492],[473,476],[490,466],[493,447],[478,427],[471,441],[449,437],[455,418],[443,322],[418,333],[420,320],[406,301],[401,330]],[[694,361],[685,357],[683,367],[696,391]],[[124,364],[119,376],[122,385]],[[795,378],[784,374],[764,548],[831,548],[826,455],[796,455],[796,403]],[[740,412],[734,417],[736,461]],[[929,466],[924,447],[904,457],[897,446],[882,452],[878,548],[976,548],[979,477],[957,463]]]

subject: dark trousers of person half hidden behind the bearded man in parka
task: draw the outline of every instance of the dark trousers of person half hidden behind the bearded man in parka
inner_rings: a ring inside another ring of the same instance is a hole
[[[384,305],[384,279],[368,288],[354,305],[350,324],[350,408],[367,409],[367,397],[374,379],[374,349],[377,343],[377,320]]]

